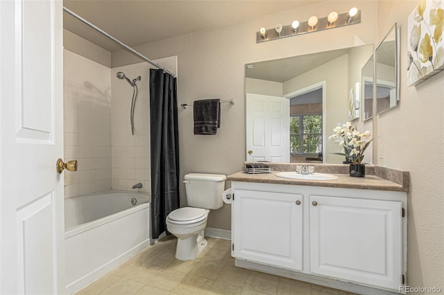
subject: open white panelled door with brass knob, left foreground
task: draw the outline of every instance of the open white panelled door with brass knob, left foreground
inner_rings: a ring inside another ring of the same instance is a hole
[[[62,294],[62,1],[0,1],[1,294]]]

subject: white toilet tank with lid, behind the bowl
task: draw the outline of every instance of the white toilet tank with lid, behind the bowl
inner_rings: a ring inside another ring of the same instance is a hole
[[[185,193],[190,207],[219,209],[223,206],[222,193],[225,175],[189,173],[185,175]]]

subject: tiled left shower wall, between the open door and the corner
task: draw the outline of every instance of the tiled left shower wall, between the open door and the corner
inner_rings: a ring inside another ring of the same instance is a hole
[[[109,190],[112,185],[110,69],[64,51],[65,198]]]

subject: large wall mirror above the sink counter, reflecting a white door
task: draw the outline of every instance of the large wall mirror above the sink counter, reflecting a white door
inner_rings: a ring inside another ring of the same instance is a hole
[[[368,44],[246,64],[246,161],[342,163],[328,137],[349,120],[372,54]]]

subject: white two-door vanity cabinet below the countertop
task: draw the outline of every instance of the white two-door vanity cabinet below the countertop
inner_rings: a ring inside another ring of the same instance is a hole
[[[232,193],[232,256],[242,267],[361,294],[404,285],[406,193],[237,181]]]

